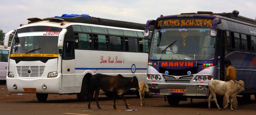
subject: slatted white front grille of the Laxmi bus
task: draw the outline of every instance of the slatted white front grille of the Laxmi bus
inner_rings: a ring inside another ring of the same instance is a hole
[[[41,77],[45,66],[17,66],[16,69],[19,77]]]

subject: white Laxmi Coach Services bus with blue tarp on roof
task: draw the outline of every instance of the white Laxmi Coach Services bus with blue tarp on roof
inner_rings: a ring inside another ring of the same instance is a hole
[[[9,92],[36,93],[38,101],[46,101],[48,94],[76,94],[86,101],[96,73],[137,76],[145,82],[145,24],[90,16],[28,20],[5,36],[6,47],[14,33],[6,79]]]

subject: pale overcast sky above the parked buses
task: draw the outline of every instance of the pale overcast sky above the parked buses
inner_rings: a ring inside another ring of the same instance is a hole
[[[163,15],[212,11],[239,11],[255,19],[256,0],[0,0],[0,29],[4,33],[27,24],[30,17],[89,14],[111,20],[146,23]]]

